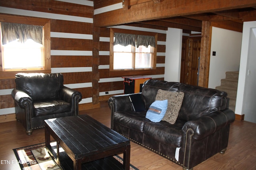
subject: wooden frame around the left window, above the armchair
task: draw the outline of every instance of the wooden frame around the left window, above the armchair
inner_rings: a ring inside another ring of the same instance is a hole
[[[35,18],[26,16],[15,16],[0,14],[0,22],[9,23],[22,23],[29,25],[42,25],[44,26],[44,69],[42,70],[18,70],[18,71],[4,71],[2,67],[2,46],[0,48],[0,79],[14,78],[15,74],[19,72],[39,72],[50,73],[51,72],[51,55],[50,55],[50,20],[45,18]],[[2,33],[1,33],[2,34]],[[2,35],[1,35],[2,36]],[[2,43],[0,43],[2,45]]]

